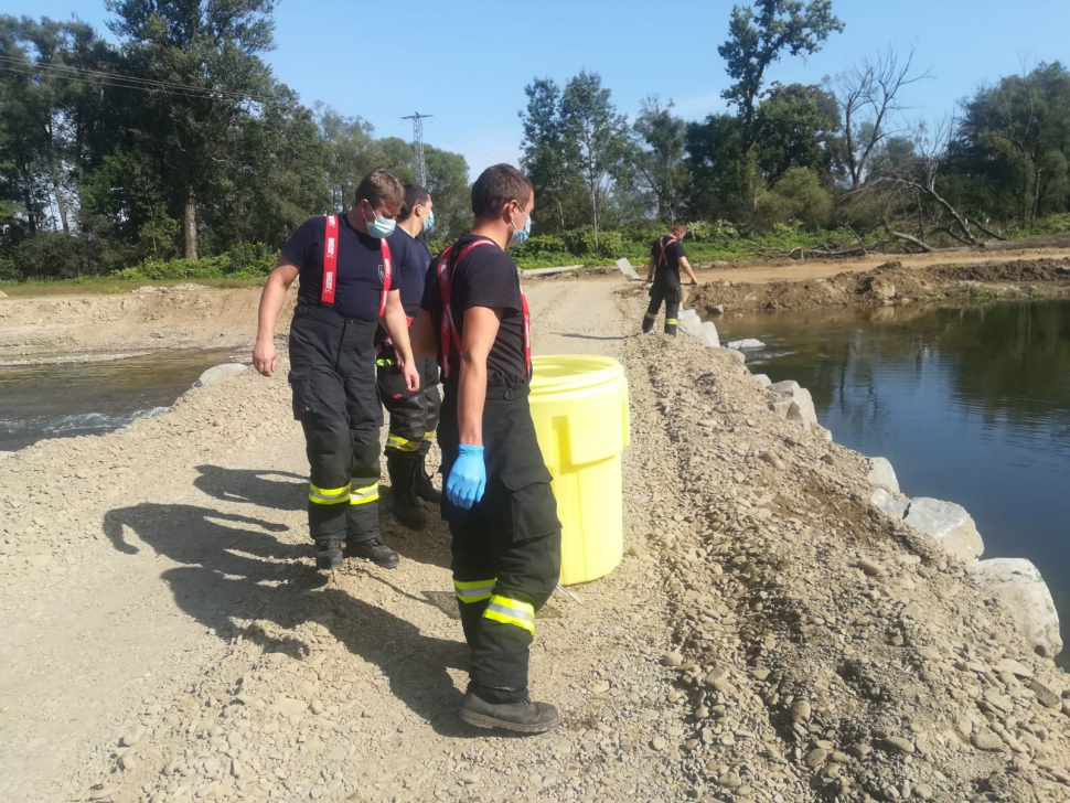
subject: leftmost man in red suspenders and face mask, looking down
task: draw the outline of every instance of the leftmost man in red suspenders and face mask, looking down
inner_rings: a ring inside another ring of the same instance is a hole
[[[386,568],[398,563],[379,537],[383,408],[375,390],[375,330],[382,321],[406,387],[415,392],[419,374],[386,242],[404,196],[385,170],[364,176],[349,214],[301,224],[260,297],[253,364],[270,376],[278,365],[275,324],[286,291],[301,277],[289,379],[311,465],[309,529],[321,569],[342,568],[343,543],[354,557]]]

